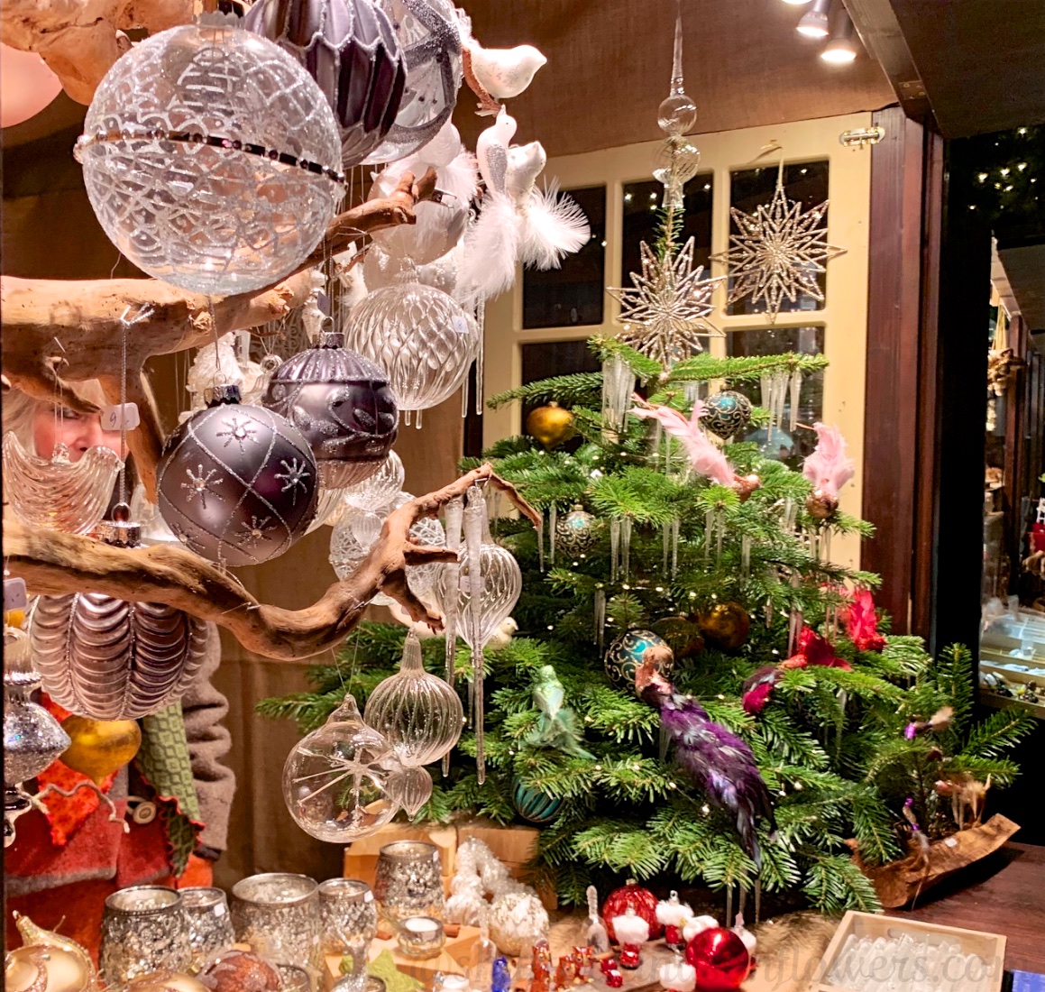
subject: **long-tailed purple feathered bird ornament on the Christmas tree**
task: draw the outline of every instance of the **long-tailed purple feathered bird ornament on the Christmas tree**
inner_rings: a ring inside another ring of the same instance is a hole
[[[635,671],[638,695],[660,711],[660,724],[675,744],[675,760],[712,802],[733,814],[744,850],[761,866],[756,821],[765,817],[773,831],[776,822],[754,755],[736,734],[712,720],[696,699],[675,691],[657,671],[659,650],[649,648]]]

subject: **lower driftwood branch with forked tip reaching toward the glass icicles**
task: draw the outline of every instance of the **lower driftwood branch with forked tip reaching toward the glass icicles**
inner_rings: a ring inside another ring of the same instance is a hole
[[[4,557],[10,574],[24,578],[33,595],[95,592],[165,603],[226,627],[249,651],[280,660],[309,658],[338,647],[378,592],[396,600],[413,621],[442,629],[439,614],[410,591],[407,566],[451,561],[457,552],[415,545],[410,529],[422,517],[436,516],[469,486],[484,482],[505,492],[534,525],[539,523],[537,511],[514,486],[483,465],[393,510],[359,568],[305,609],[259,603],[232,575],[181,548],[115,548],[90,537],[4,521]]]

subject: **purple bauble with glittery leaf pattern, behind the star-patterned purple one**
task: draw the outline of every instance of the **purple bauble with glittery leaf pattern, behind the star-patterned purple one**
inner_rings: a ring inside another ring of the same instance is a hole
[[[326,331],[319,345],[276,369],[262,399],[311,445],[320,483],[327,489],[374,475],[399,430],[388,375],[344,344],[344,334]]]

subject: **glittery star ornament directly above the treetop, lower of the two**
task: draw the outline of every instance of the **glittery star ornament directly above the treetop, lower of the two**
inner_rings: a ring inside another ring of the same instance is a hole
[[[701,338],[723,333],[706,318],[715,308],[712,296],[724,277],[702,279],[703,267],[693,268],[693,238],[678,253],[657,258],[645,241],[638,246],[642,275],[629,273],[631,289],[607,289],[621,304],[619,341],[665,368],[703,351]]]

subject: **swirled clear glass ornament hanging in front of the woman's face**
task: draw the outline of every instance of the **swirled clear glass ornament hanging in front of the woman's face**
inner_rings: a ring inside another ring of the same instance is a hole
[[[8,432],[3,436],[4,497],[30,527],[87,534],[104,515],[122,464],[108,447],[90,447],[74,462],[65,444],[55,444],[49,459],[39,458]]]

